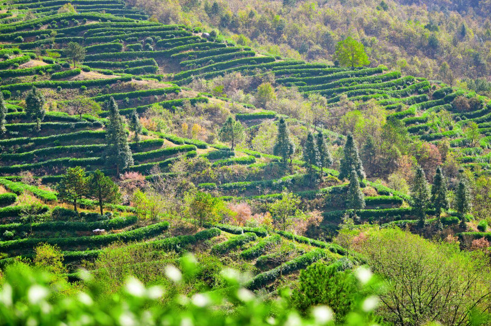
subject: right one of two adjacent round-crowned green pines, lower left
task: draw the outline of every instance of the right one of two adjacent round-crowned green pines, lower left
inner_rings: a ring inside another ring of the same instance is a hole
[[[88,196],[97,200],[101,215],[105,203],[116,203],[120,198],[118,186],[99,170],[94,171],[88,179]]]

